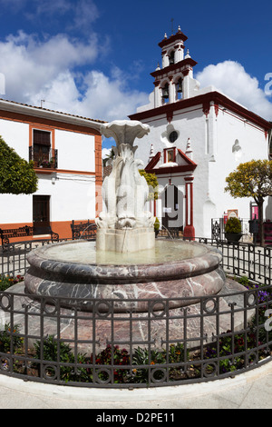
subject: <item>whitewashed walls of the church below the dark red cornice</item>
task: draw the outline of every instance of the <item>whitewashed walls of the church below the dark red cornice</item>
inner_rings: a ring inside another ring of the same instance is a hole
[[[202,105],[174,112],[171,124],[167,124],[165,116],[143,122],[150,124],[151,132],[141,140],[136,140],[138,149],[135,157],[143,160],[144,166],[148,164],[151,144],[154,154],[163,154],[163,149],[170,146],[176,146],[185,153],[187,140],[190,138],[192,160],[198,164],[193,182],[194,226],[197,236],[210,237],[211,217],[222,217],[228,209],[238,209],[241,218],[249,219],[249,203],[253,199],[234,199],[224,188],[227,185],[226,177],[238,164],[252,159],[267,159],[267,140],[262,130],[245,123],[234,114],[223,112],[221,108],[216,116],[213,106],[210,107],[207,118],[203,114]],[[171,144],[167,135],[173,130],[178,131],[179,137]],[[238,152],[234,151],[235,144],[241,148]],[[167,182],[168,177],[159,179],[159,184]],[[182,182],[180,177],[180,184]],[[179,184],[178,177],[175,182],[172,178],[172,183]],[[267,218],[271,219],[271,201],[266,201],[265,212]]]

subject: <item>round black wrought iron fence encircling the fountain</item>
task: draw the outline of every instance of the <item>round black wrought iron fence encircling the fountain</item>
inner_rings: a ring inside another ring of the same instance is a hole
[[[83,387],[135,388],[205,382],[233,376],[271,361],[271,249],[252,244],[219,243],[227,280],[224,292],[201,297],[83,300],[65,308],[59,298],[24,294],[24,284],[0,292],[0,372],[24,380]],[[33,243],[2,257],[2,273],[25,273],[25,253]],[[3,262],[3,258],[5,261]],[[246,278],[247,276],[247,278]],[[236,282],[235,282],[236,283]],[[241,285],[238,285],[241,286]],[[71,298],[69,298],[71,303]],[[177,304],[178,303],[178,304]]]

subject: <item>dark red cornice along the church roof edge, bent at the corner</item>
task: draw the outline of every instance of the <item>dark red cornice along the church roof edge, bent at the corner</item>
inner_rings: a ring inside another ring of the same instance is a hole
[[[242,107],[234,101],[231,101],[227,96],[219,94],[219,92],[217,91],[209,92],[208,94],[200,94],[199,96],[193,96],[188,99],[181,99],[177,103],[162,105],[160,107],[143,111],[141,113],[131,114],[129,115],[129,118],[131,120],[142,121],[147,118],[155,117],[157,115],[163,115],[170,112],[178,112],[185,108],[189,108],[199,104],[203,105],[204,103],[208,102],[214,102],[214,104],[218,104],[225,108],[228,108],[228,110],[240,115],[251,123],[256,124],[260,128],[264,129],[264,131],[272,129],[272,123],[267,122],[267,120],[263,119],[259,115],[247,110],[247,108]]]

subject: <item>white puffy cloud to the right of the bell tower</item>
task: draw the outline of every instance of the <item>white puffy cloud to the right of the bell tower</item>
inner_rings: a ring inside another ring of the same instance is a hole
[[[272,104],[259,87],[256,77],[251,77],[245,68],[234,61],[208,65],[196,74],[201,87],[214,85],[219,91],[243,104],[248,110],[272,120]]]

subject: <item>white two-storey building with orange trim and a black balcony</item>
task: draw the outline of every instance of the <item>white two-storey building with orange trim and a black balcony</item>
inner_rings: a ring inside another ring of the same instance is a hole
[[[34,226],[33,238],[41,238],[50,225],[65,238],[72,236],[72,220],[94,220],[102,210],[102,123],[0,100],[0,135],[34,160],[38,177],[34,194],[0,194],[0,228]]]

